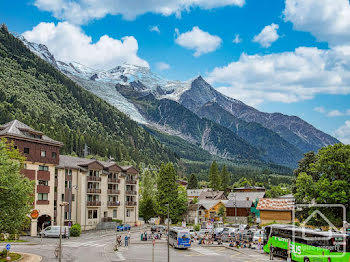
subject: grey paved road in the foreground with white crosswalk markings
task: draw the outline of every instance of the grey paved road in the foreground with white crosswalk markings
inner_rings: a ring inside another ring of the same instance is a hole
[[[123,233],[120,233],[124,236]],[[141,242],[140,234],[131,234],[129,247],[120,247],[114,251],[116,233],[113,231],[94,231],[78,238],[63,239],[63,259],[65,262],[117,262],[117,261],[152,261],[151,242]],[[43,262],[58,261],[54,250],[58,244],[56,238],[24,238],[29,242],[12,244],[11,251],[34,253],[43,257]],[[0,244],[0,249],[5,244]],[[154,247],[154,261],[167,261],[167,245],[165,240],[157,241]],[[277,259],[279,260],[279,259]],[[242,248],[239,251],[223,246],[202,247],[193,244],[188,250],[170,247],[170,261],[176,262],[255,262],[269,261],[269,257],[257,250]]]

